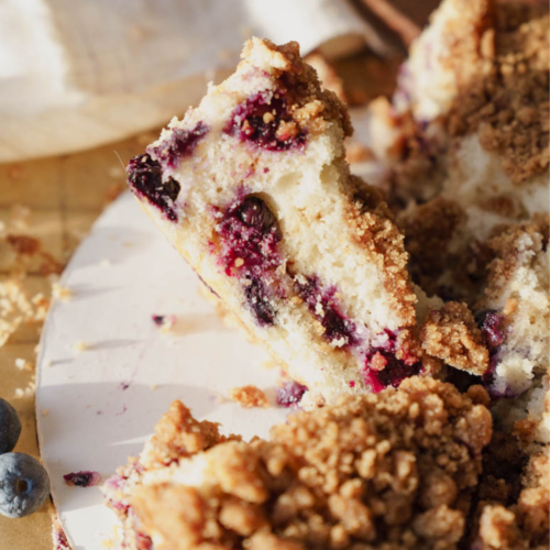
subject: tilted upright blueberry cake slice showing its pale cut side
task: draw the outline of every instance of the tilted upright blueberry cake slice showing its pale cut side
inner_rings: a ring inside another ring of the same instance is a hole
[[[132,191],[309,403],[427,372],[403,235],[350,175],[344,106],[296,43],[242,57],[130,162]]]

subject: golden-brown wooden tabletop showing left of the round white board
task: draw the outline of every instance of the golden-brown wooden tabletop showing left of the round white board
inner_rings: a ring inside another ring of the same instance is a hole
[[[41,257],[14,256],[6,235],[36,238],[59,267],[65,265],[105,206],[125,188],[122,165],[156,135],[155,131],[85,153],[0,165],[0,222],[4,224],[0,283],[15,279],[29,296],[50,296],[55,274],[47,273],[52,270]],[[47,414],[34,409],[40,328],[40,323],[22,326],[0,348],[0,397],[18,409],[23,424],[15,451],[34,457],[38,457],[35,415]],[[0,550],[51,550],[50,512],[47,503],[26,518],[0,516]]]

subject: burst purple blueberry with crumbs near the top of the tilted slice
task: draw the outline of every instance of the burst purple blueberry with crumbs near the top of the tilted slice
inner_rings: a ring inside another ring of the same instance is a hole
[[[258,91],[248,98],[234,109],[224,131],[267,151],[304,148],[306,144],[306,133],[293,121],[284,90]]]

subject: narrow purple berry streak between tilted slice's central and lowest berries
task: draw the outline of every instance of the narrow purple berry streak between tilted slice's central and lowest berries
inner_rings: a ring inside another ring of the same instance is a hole
[[[321,289],[317,277],[296,277],[295,290],[307,304],[309,311],[324,329],[329,342],[341,342],[343,348],[355,345],[355,324],[340,311],[336,288]]]

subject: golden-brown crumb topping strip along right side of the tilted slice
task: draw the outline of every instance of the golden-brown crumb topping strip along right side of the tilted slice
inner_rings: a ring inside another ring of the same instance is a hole
[[[364,248],[384,279],[389,307],[402,327],[416,323],[416,295],[407,271],[408,254],[404,237],[393,221],[383,194],[354,178],[355,196],[345,212],[352,239]]]

